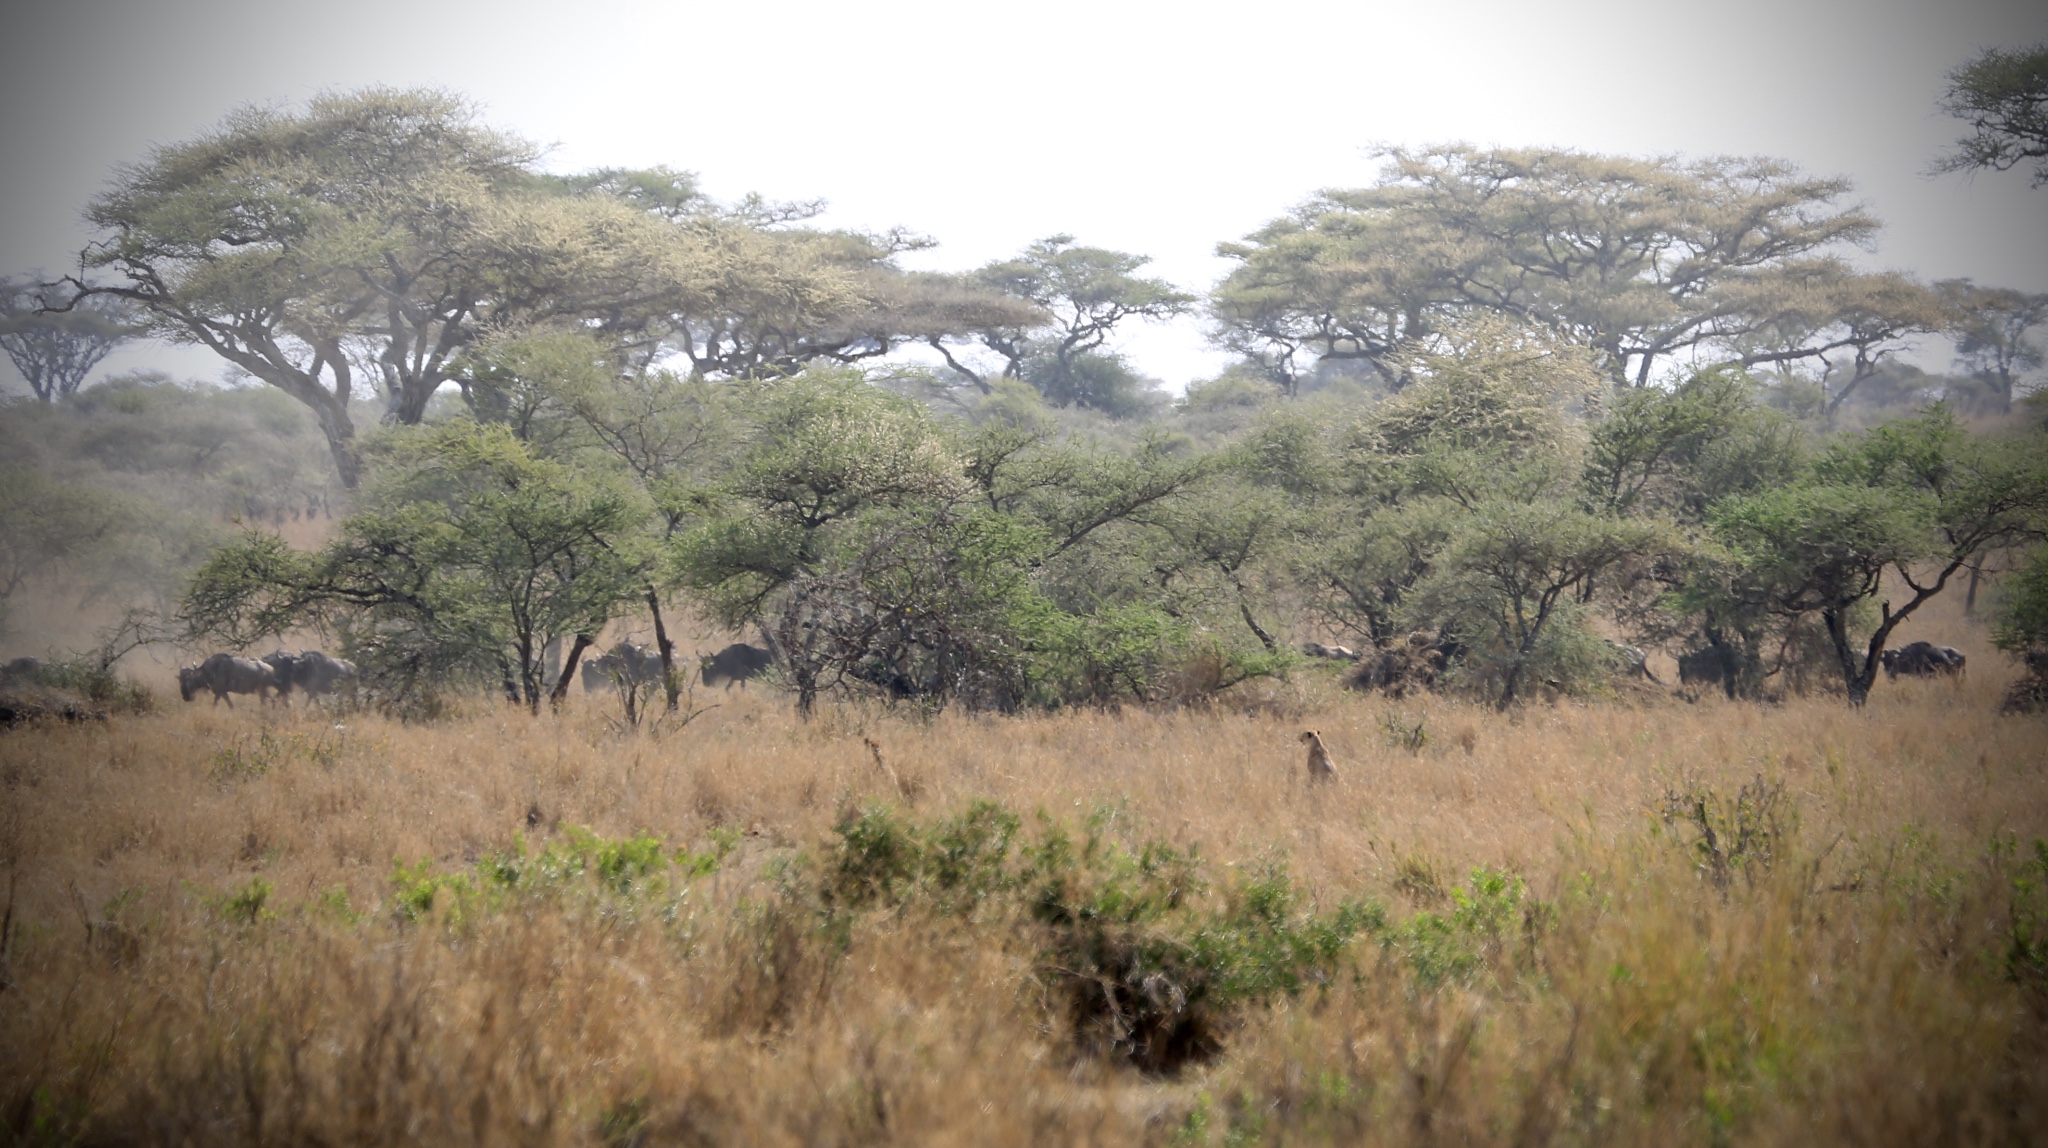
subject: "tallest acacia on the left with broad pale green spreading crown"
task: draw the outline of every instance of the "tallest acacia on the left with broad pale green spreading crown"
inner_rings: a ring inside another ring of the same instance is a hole
[[[698,284],[700,246],[614,194],[565,194],[537,156],[446,92],[242,108],[115,176],[80,256],[109,278],[70,282],[311,407],[354,487],[358,387],[416,424],[492,323],[637,313]]]

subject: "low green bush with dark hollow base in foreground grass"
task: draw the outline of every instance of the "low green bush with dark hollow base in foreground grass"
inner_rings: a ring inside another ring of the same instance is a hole
[[[815,870],[817,898],[842,927],[868,907],[999,915],[1077,1046],[1151,1072],[1214,1056],[1239,1009],[1327,984],[1352,937],[1384,927],[1372,902],[1315,913],[1280,866],[1212,890],[1194,849],[1120,841],[1112,821],[1075,839],[1040,819],[1020,841],[1022,819],[991,802],[924,829],[860,810]]]

